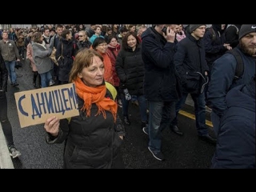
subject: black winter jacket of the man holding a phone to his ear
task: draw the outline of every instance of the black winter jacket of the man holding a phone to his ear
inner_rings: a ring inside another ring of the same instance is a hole
[[[145,65],[144,94],[155,102],[176,102],[181,94],[174,66],[175,44],[166,42],[154,27],[142,34],[142,59]]]

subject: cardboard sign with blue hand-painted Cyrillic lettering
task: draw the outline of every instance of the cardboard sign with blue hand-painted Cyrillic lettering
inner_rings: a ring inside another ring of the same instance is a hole
[[[45,123],[47,118],[60,119],[79,115],[74,83],[15,93],[21,127]]]

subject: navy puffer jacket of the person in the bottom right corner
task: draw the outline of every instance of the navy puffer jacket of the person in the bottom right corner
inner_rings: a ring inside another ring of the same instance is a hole
[[[255,169],[255,80],[226,95],[211,168]]]

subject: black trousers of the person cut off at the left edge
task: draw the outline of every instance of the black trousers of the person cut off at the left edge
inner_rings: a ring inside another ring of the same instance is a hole
[[[0,91],[0,122],[2,125],[3,134],[5,134],[7,146],[14,145],[13,131],[10,121],[7,117],[7,98],[6,92]]]

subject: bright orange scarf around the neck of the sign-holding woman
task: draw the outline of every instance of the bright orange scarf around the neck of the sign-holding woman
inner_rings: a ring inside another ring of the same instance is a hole
[[[97,87],[86,86],[84,82],[82,82],[81,78],[76,78],[74,80],[74,85],[76,89],[76,93],[79,98],[82,98],[84,101],[84,106],[81,110],[86,110],[86,117],[90,117],[90,109],[92,103],[95,103],[98,106],[98,113],[95,114],[103,114],[103,117],[106,118],[106,111],[109,110],[111,114],[113,114],[114,122],[116,122],[117,112],[118,112],[118,104],[114,102],[110,98],[106,98],[106,86],[105,84]]]

